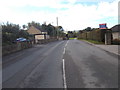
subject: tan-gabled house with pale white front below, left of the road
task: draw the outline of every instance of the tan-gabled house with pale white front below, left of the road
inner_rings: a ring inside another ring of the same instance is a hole
[[[27,32],[31,35],[34,35],[35,42],[37,43],[38,40],[49,39],[49,35],[46,30],[43,30],[41,27],[38,26],[31,26]]]

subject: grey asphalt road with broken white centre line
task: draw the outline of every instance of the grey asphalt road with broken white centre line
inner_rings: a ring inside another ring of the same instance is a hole
[[[118,56],[79,40],[3,57],[3,88],[117,88]]]

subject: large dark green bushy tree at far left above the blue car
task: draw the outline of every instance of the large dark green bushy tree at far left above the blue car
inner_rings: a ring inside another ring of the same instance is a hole
[[[29,38],[27,31],[20,29],[18,24],[6,23],[2,25],[3,44],[12,44],[19,37]]]

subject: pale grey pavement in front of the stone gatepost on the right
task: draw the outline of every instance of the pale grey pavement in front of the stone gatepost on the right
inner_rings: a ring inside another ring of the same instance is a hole
[[[96,47],[99,47],[107,52],[110,52],[110,53],[113,53],[113,54],[116,54],[116,55],[120,55],[120,45],[103,45],[103,44],[93,44],[93,43],[90,43],[88,41],[85,41],[93,46],[96,46]]]

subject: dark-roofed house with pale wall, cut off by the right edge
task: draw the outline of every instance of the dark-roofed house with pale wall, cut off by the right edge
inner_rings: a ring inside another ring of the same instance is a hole
[[[113,26],[111,30],[113,40],[120,40],[120,24]]]

